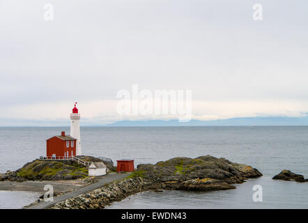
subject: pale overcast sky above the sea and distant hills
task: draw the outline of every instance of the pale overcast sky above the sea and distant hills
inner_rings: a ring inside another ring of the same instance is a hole
[[[0,0],[0,125],[69,123],[75,102],[92,124],[176,118],[118,114],[118,91],[134,84],[192,91],[193,119],[305,116],[307,10],[306,0]]]

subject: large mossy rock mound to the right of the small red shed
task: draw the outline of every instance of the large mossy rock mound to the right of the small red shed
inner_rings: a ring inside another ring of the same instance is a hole
[[[142,176],[155,185],[169,190],[228,190],[231,184],[243,183],[247,178],[262,174],[245,164],[230,162],[210,155],[175,157],[157,164],[139,164],[135,176]]]

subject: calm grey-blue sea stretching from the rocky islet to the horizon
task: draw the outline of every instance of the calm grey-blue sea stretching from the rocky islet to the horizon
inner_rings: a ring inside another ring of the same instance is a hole
[[[45,140],[69,128],[0,128],[0,172],[45,155]],[[282,169],[308,178],[308,127],[84,127],[82,153],[155,164],[213,155],[252,165],[264,175],[219,192],[144,192],[108,208],[308,208],[308,183],[272,180]],[[252,201],[254,185],[263,201]],[[0,194],[0,207],[9,203]]]

